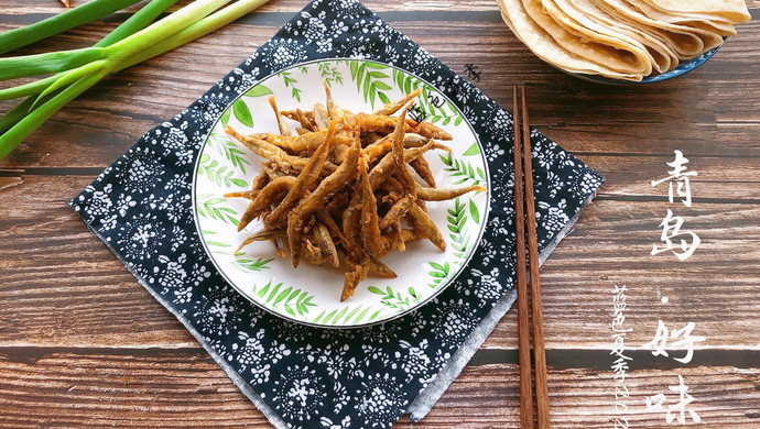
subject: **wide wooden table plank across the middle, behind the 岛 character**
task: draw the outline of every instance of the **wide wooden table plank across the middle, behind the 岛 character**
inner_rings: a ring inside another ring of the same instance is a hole
[[[90,179],[24,176],[23,184],[0,191],[0,345],[193,343],[65,205]],[[600,198],[586,209],[543,268],[547,348],[607,348],[616,284],[629,288],[632,343],[649,342],[662,318],[696,322],[707,348],[760,344],[760,304],[753,299],[760,294],[760,206],[695,202],[691,210],[676,209],[684,228],[703,240],[683,263],[649,255],[672,207]],[[661,296],[669,297],[667,306]],[[514,332],[510,314],[486,346],[514,348]]]

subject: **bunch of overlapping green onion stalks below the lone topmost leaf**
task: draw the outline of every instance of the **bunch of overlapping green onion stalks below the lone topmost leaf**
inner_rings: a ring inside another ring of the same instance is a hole
[[[104,76],[206,35],[268,0],[238,0],[218,11],[231,0],[196,0],[142,29],[175,1],[151,1],[93,47],[0,58],[0,79],[56,73],[35,82],[0,90],[0,100],[39,94],[36,100],[30,97],[0,118],[0,133],[3,133],[0,135],[0,160]]]

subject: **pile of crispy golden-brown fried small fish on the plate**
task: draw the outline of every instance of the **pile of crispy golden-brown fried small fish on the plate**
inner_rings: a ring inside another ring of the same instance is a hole
[[[427,239],[446,249],[425,201],[486,189],[436,187],[423,154],[432,148],[450,152],[434,139],[452,136],[432,123],[406,119],[404,106],[420,90],[370,114],[341,109],[326,84],[325,95],[326,107],[316,102],[312,111],[280,112],[270,98],[279,134],[241,135],[225,129],[267,160],[251,189],[225,197],[250,200],[239,230],[263,219],[264,229],[249,235],[236,253],[254,241],[271,241],[278,256],[286,257],[280,248],[280,240],[285,240],[294,267],[303,260],[346,270],[340,293],[345,300],[368,275],[397,277],[380,260],[394,250],[405,251],[406,243]],[[401,109],[398,117],[390,116]],[[297,135],[291,134],[284,118],[298,122]],[[426,186],[417,183],[412,169]]]

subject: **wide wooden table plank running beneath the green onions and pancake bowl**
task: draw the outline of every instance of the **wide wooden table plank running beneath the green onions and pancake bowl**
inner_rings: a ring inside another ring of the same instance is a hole
[[[513,82],[528,81],[534,124],[569,151],[664,155],[681,148],[692,154],[760,156],[752,132],[760,127],[753,113],[760,111],[760,65],[751,55],[760,46],[760,22],[750,23],[690,77],[645,88],[598,86],[556,72],[498,22],[432,29],[400,22],[398,26],[456,72],[463,73],[466,63],[478,65],[485,73],[476,84],[501,103],[511,97]],[[230,25],[110,76],[53,117],[0,167],[106,167],[275,31],[271,24]],[[94,24],[57,37],[50,46],[75,47],[104,34]],[[465,35],[463,48],[459,42]],[[209,50],[219,54],[208,57]],[[198,62],[198,57],[207,59]],[[741,102],[732,102],[739,97]],[[12,106],[0,102],[0,112]]]

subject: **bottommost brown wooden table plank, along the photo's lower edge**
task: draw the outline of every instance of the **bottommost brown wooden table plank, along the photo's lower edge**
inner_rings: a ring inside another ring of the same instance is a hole
[[[554,365],[549,383],[557,428],[609,428],[614,416],[611,371]],[[253,405],[202,350],[0,349],[0,427],[113,426],[267,427]],[[633,362],[632,364],[634,364]],[[611,364],[611,359],[610,359]],[[647,413],[645,397],[684,377],[691,408],[710,427],[757,427],[759,371],[731,366],[632,369],[631,427],[662,427],[664,413]],[[466,367],[432,413],[415,428],[482,428],[518,425],[514,364]],[[672,398],[671,398],[672,399]],[[395,427],[408,427],[403,418]]]

